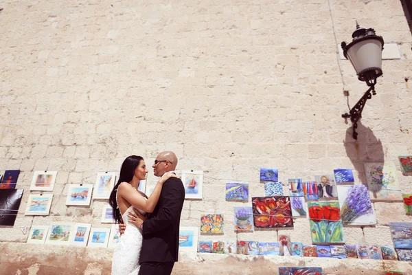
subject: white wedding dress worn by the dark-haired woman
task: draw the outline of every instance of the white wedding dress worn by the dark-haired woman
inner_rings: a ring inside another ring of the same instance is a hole
[[[141,236],[141,229],[137,228],[136,225],[128,223],[127,213],[132,209],[133,206],[130,206],[126,212],[122,214],[126,230],[124,230],[124,234],[120,237],[115,252],[113,252],[112,275],[139,274],[139,256],[143,236]],[[139,210],[139,212],[141,212],[141,214],[146,214],[146,212],[142,210]]]

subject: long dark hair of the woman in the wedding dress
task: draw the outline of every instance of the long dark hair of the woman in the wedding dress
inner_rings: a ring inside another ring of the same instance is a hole
[[[136,167],[139,166],[139,163],[141,160],[144,160],[144,159],[143,157],[140,157],[139,155],[130,155],[126,157],[126,159],[124,159],[122,168],[120,168],[119,179],[117,180],[117,184],[113,188],[110,194],[110,197],[108,199],[108,203],[110,203],[110,206],[113,208],[113,219],[115,220],[116,223],[122,223],[122,214],[120,213],[120,209],[118,208],[117,200],[116,200],[117,188],[119,188],[119,185],[122,182],[132,181],[133,176],[135,175]],[[147,199],[147,196],[144,194],[144,192],[140,192],[140,194],[143,197],[146,197]]]

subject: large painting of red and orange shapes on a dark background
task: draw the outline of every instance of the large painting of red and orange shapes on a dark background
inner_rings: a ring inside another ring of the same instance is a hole
[[[252,208],[255,228],[293,227],[289,197],[253,197]]]

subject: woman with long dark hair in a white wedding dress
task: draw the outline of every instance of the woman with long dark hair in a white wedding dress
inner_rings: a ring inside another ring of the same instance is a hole
[[[113,208],[113,219],[116,223],[124,223],[126,230],[120,237],[119,243],[113,252],[113,275],[137,275],[139,274],[139,256],[141,250],[141,229],[128,223],[127,212],[137,208],[141,214],[151,213],[159,201],[163,183],[170,177],[176,177],[173,173],[165,173],[157,181],[155,189],[150,197],[138,191],[139,181],[146,179],[148,169],[143,157],[130,155],[120,169],[119,180],[113,188],[109,203]]]

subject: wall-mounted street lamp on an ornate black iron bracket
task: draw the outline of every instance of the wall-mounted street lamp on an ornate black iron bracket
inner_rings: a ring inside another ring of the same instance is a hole
[[[382,76],[382,36],[377,36],[374,29],[360,28],[356,22],[356,30],[352,34],[353,41],[349,44],[341,43],[343,55],[349,59],[358,79],[365,81],[369,89],[365,92],[362,98],[350,109],[349,113],[344,113],[342,118],[350,118],[352,121],[353,137],[358,138],[356,128],[358,120],[362,117],[363,107],[366,100],[372,98],[372,94],[376,95],[375,85],[376,78]]]

